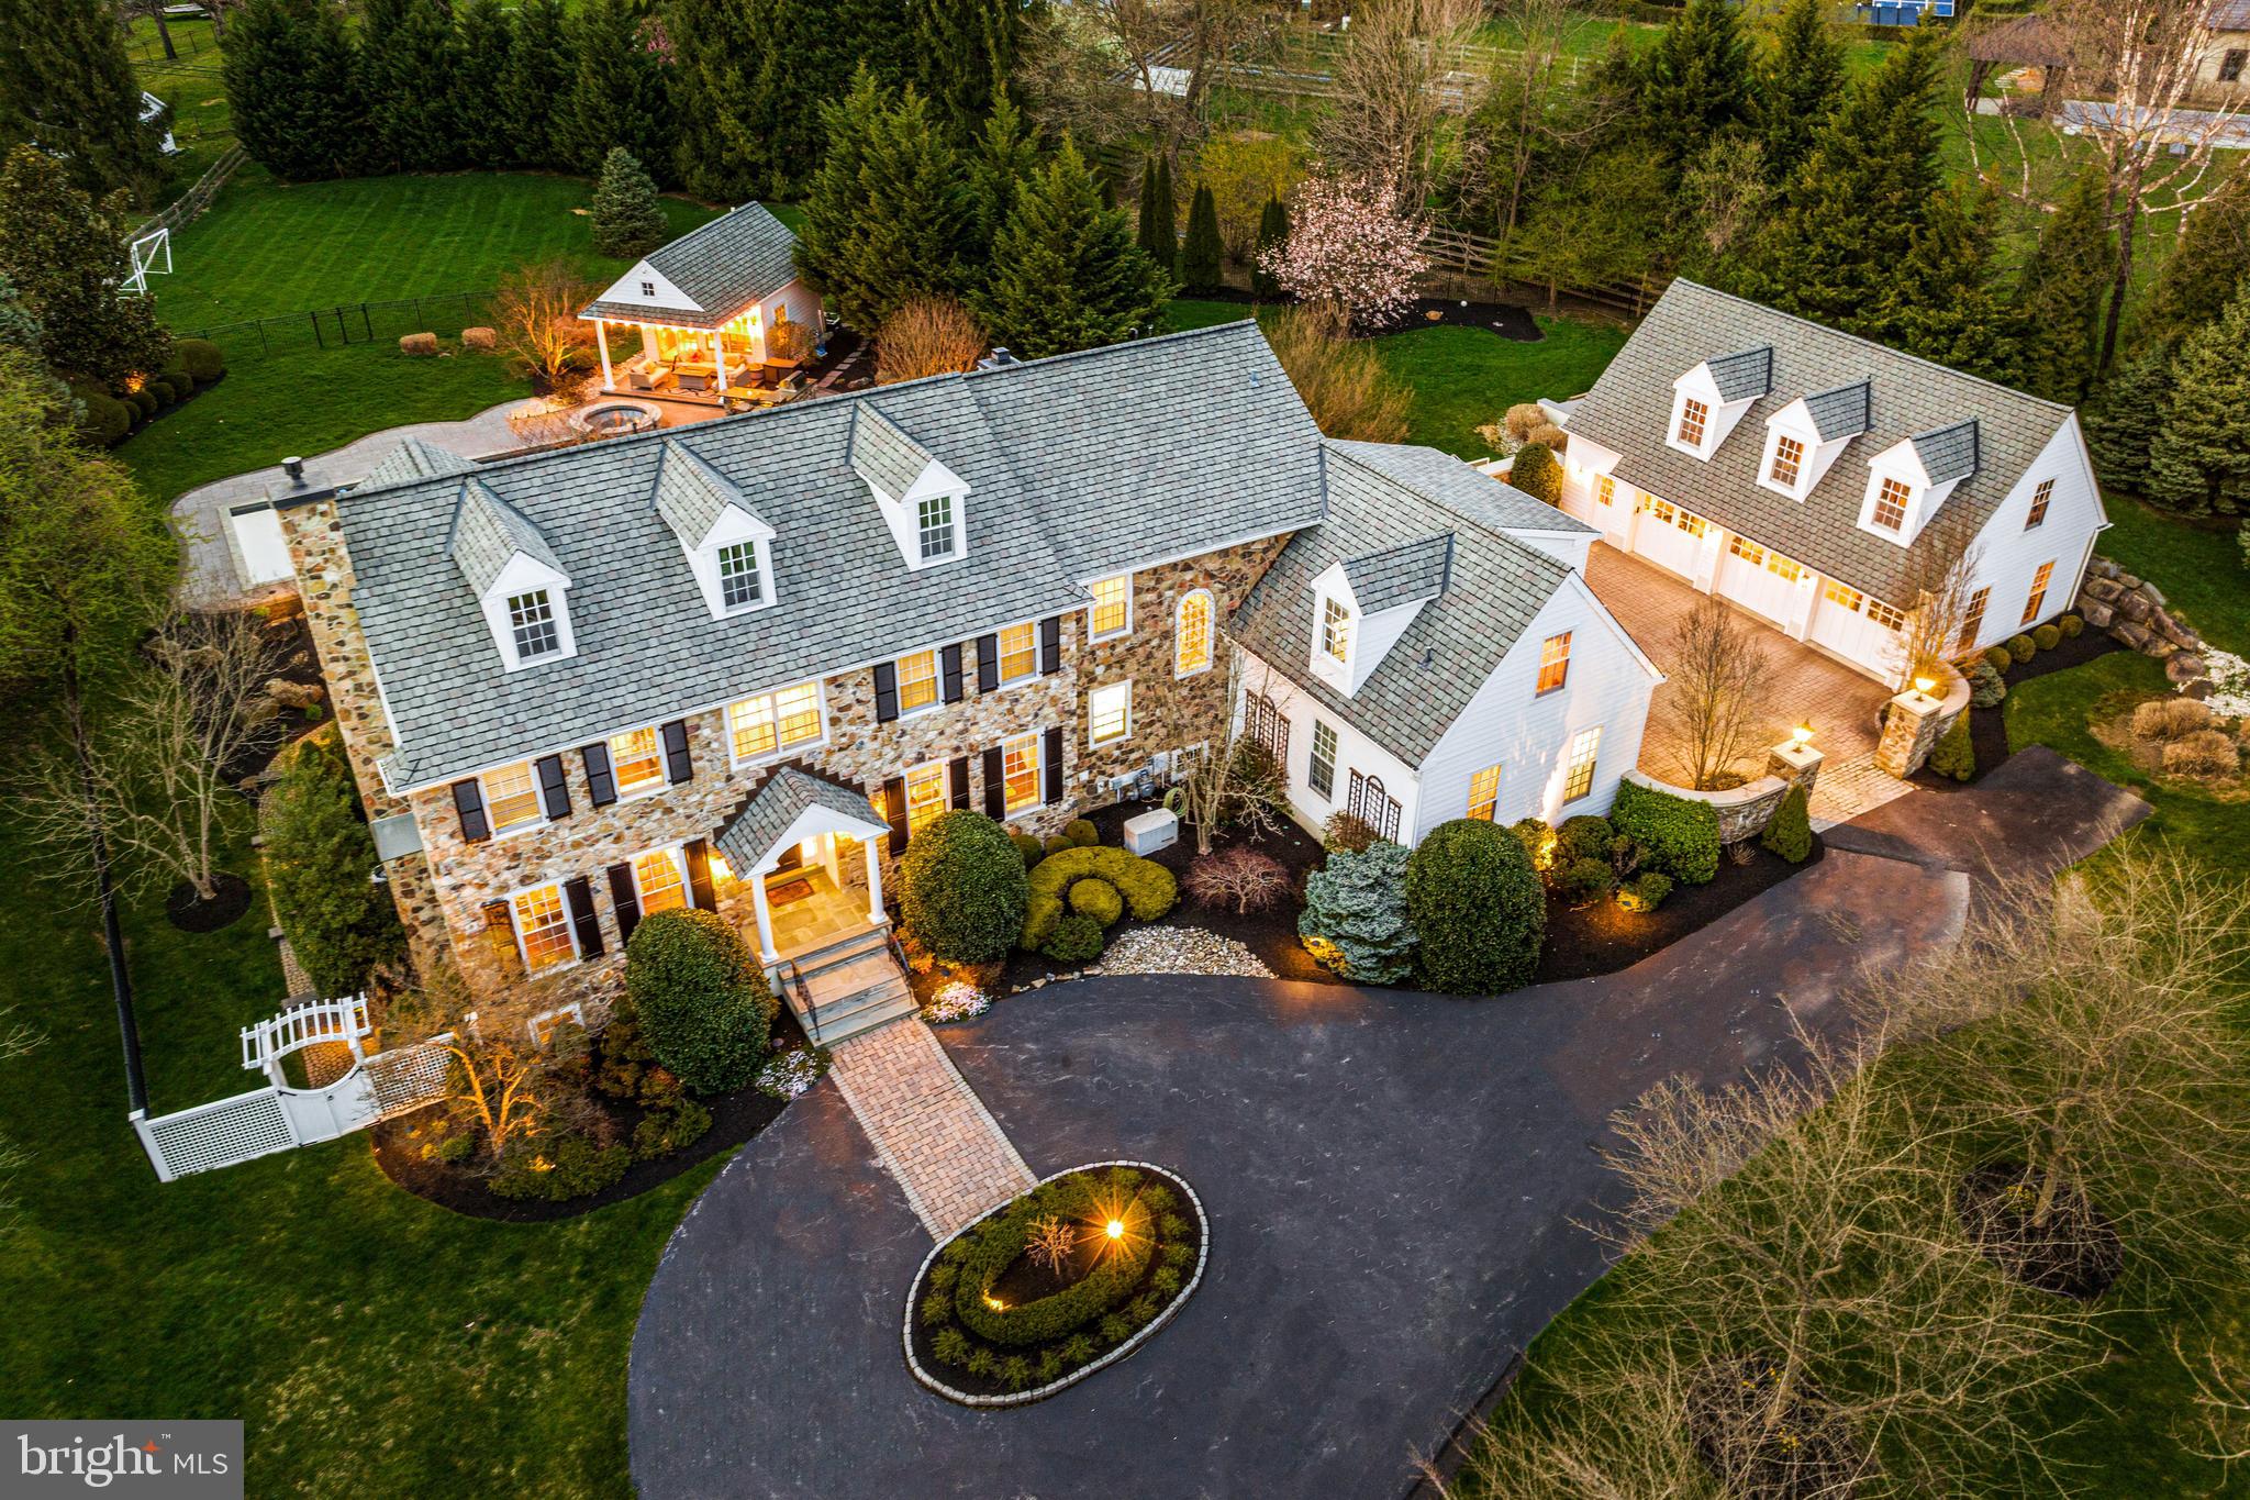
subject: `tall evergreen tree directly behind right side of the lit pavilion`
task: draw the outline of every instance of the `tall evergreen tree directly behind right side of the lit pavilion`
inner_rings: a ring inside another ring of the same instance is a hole
[[[968,169],[911,85],[886,103],[862,72],[830,106],[806,220],[796,263],[855,328],[878,328],[914,297],[958,295],[970,279]]]

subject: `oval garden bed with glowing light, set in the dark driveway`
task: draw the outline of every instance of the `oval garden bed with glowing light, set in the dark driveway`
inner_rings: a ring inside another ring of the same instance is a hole
[[[963,1406],[1024,1406],[1114,1365],[1204,1280],[1204,1205],[1138,1160],[1046,1178],[938,1244],[907,1295],[907,1367]]]

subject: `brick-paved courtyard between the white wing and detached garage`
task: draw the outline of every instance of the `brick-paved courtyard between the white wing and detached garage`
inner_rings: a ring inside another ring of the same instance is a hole
[[[1670,672],[1674,623],[1703,594],[1609,542],[1593,544],[1593,555],[1586,560],[1586,582],[1640,650]],[[1834,657],[1802,641],[1791,641],[1755,614],[1739,614],[1757,627],[1773,659],[1773,684],[1768,690],[1771,708],[1753,735],[1757,749],[1735,769],[1744,776],[1764,776],[1766,747],[1786,740],[1793,724],[1809,722],[1814,747],[1827,756],[1820,762],[1820,780],[1814,785],[1816,823],[1843,823],[1910,792],[1908,783],[1886,776],[1874,765],[1874,747],[1881,735],[1879,713],[1890,702],[1890,690]],[[1660,780],[1685,785],[1683,738],[1672,729],[1667,713],[1676,695],[1678,686],[1667,681],[1656,688],[1656,697],[1649,702],[1649,729],[1640,740],[1640,769]]]

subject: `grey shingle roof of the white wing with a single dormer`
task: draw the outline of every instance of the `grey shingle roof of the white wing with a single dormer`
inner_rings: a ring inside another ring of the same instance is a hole
[[[1328,443],[1328,519],[1289,537],[1235,614],[1233,634],[1330,713],[1406,765],[1422,765],[1570,569],[1501,531],[1512,524],[1503,517],[1526,515],[1523,506],[1555,517],[1552,506],[1431,448],[1393,450],[1400,459],[1415,454],[1397,466],[1364,461],[1366,448]],[[1440,466],[1454,466],[1469,486],[1485,486],[1498,499],[1456,504],[1465,486],[1424,488],[1386,472]],[[1336,562],[1418,549],[1431,537],[1451,540],[1449,587],[1422,605],[1359,693],[1336,693],[1310,666],[1312,580]]]

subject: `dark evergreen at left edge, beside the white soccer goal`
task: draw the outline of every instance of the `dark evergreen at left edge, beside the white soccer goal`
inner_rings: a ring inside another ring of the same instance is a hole
[[[45,331],[54,369],[110,389],[160,371],[171,353],[155,299],[117,290],[133,270],[133,225],[124,189],[94,202],[38,146],[16,146],[0,169],[0,277]]]

